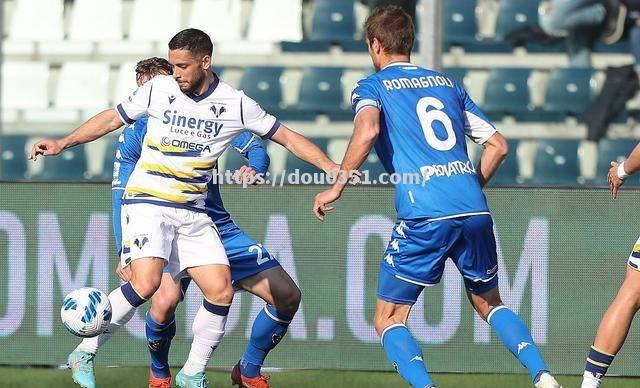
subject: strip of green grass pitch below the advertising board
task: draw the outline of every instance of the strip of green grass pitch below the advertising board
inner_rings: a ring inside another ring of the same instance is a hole
[[[174,370],[175,374],[177,370]],[[74,387],[68,370],[47,368],[0,368],[4,388],[63,388]],[[145,368],[105,368],[96,369],[99,388],[142,388],[146,387],[148,369]],[[231,387],[228,372],[208,371],[212,387]],[[527,375],[492,374],[434,374],[434,380],[441,388],[519,388],[532,387]],[[578,376],[558,376],[565,387],[580,386]],[[380,388],[405,387],[404,381],[392,372],[345,372],[345,371],[287,371],[271,373],[274,388]],[[631,388],[640,386],[640,378],[609,377],[602,388]]]

